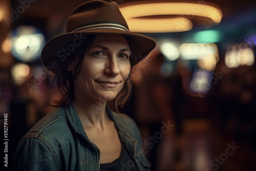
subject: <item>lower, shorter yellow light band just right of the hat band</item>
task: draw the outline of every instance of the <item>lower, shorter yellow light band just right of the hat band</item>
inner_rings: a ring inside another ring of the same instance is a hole
[[[130,31],[133,32],[180,32],[188,31],[192,28],[192,23],[190,20],[183,17],[164,19],[130,18],[126,19],[126,22],[130,28]]]

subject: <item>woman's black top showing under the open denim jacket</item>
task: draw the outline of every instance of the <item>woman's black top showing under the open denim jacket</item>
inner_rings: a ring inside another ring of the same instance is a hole
[[[111,163],[100,164],[100,171],[118,171],[118,170],[133,170],[139,171],[136,162],[129,155],[127,149],[122,144],[120,156]]]

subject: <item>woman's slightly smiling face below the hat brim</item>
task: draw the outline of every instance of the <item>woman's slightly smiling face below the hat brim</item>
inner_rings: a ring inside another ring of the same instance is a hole
[[[122,35],[95,36],[74,80],[76,94],[113,100],[130,74],[131,50]]]

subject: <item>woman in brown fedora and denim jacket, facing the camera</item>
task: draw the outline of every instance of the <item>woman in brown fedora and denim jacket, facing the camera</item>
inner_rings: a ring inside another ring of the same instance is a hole
[[[131,92],[131,67],[155,47],[154,39],[129,32],[115,2],[77,7],[67,33],[42,50],[63,98],[60,108],[20,140],[15,170],[148,170],[135,122],[112,112]]]

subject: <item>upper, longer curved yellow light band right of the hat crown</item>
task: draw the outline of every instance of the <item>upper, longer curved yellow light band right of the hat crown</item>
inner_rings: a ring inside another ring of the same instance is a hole
[[[222,13],[219,9],[195,3],[151,3],[120,8],[125,19],[152,15],[185,15],[187,18],[203,16],[220,23]]]

